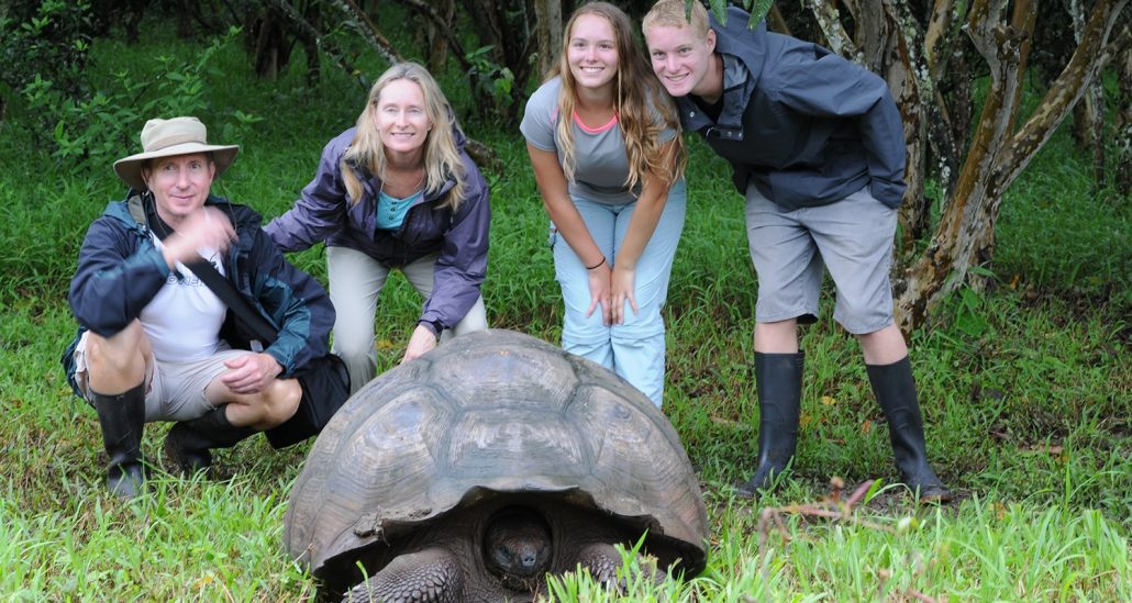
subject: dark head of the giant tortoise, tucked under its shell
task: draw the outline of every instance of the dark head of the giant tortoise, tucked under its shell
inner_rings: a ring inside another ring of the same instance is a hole
[[[508,588],[531,591],[550,569],[550,526],[526,507],[506,507],[488,520],[483,561]]]

